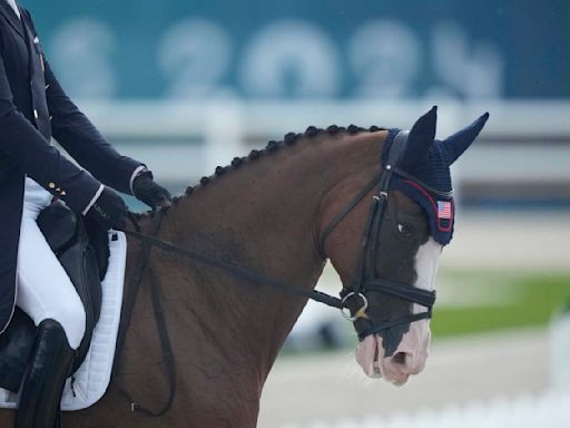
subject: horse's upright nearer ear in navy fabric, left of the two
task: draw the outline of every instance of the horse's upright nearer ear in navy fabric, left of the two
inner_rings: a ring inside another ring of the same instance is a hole
[[[420,117],[407,137],[407,145],[402,156],[401,166],[413,169],[414,166],[422,165],[428,157],[428,152],[433,145],[435,138],[435,124],[438,121],[438,106],[433,106],[430,111]]]

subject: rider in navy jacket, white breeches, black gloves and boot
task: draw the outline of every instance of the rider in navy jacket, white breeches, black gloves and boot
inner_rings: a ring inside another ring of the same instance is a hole
[[[51,137],[92,175],[63,157]],[[105,228],[121,230],[127,207],[110,187],[153,207],[170,203],[146,166],[119,155],[63,93],[29,12],[16,0],[0,0],[0,332],[14,304],[38,327],[20,386],[17,428],[56,424],[86,322],[81,301],[36,220],[57,197]]]

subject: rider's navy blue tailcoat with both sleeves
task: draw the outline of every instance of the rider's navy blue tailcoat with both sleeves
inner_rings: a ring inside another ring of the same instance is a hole
[[[26,176],[83,212],[100,182],[131,194],[141,164],[119,155],[67,97],[27,10],[0,0],[0,332],[13,312]],[[51,144],[53,137],[82,167]],[[99,182],[100,181],[100,182]]]

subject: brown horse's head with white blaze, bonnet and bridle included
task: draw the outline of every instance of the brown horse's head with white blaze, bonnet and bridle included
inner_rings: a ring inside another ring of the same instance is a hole
[[[374,189],[360,200],[337,194],[342,203],[332,205],[350,208],[323,228],[322,247],[343,281],[356,359],[370,377],[403,385],[425,366],[439,257],[453,234],[450,165],[488,117],[444,140],[435,139],[435,107],[410,132],[389,130]]]

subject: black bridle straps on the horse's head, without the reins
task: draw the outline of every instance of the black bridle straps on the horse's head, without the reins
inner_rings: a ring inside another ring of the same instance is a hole
[[[404,150],[407,142],[409,132],[402,130],[395,137],[392,144],[389,162],[383,171],[377,174],[363,189],[358,193],[344,210],[333,218],[333,221],[323,231],[321,239],[321,251],[324,254],[324,244],[336,226],[358,205],[358,203],[370,194],[373,188],[377,187],[377,194],[372,197],[370,204],[368,217],[364,227],[364,235],[361,242],[361,251],[357,260],[356,271],[348,288],[341,291],[342,313],[354,322],[354,328],[358,338],[363,340],[370,334],[376,334],[392,327],[406,324],[410,322],[430,319],[432,317],[432,308],[435,303],[435,291],[419,289],[413,285],[404,284],[387,279],[376,276],[375,261],[380,251],[379,237],[382,221],[387,207],[387,198],[390,193],[390,182],[394,174],[405,176],[412,181],[419,182],[412,175],[394,167],[399,157]],[[430,188],[432,192],[440,193]],[[394,320],[387,320],[380,323],[373,322],[366,314],[368,308],[367,293],[383,293],[412,303],[417,303],[426,311],[420,313],[410,313]],[[360,300],[360,302],[358,302]],[[358,304],[361,303],[361,304]],[[351,308],[351,309],[350,309]],[[352,309],[357,308],[357,309]],[[348,311],[348,312],[347,312]]]

